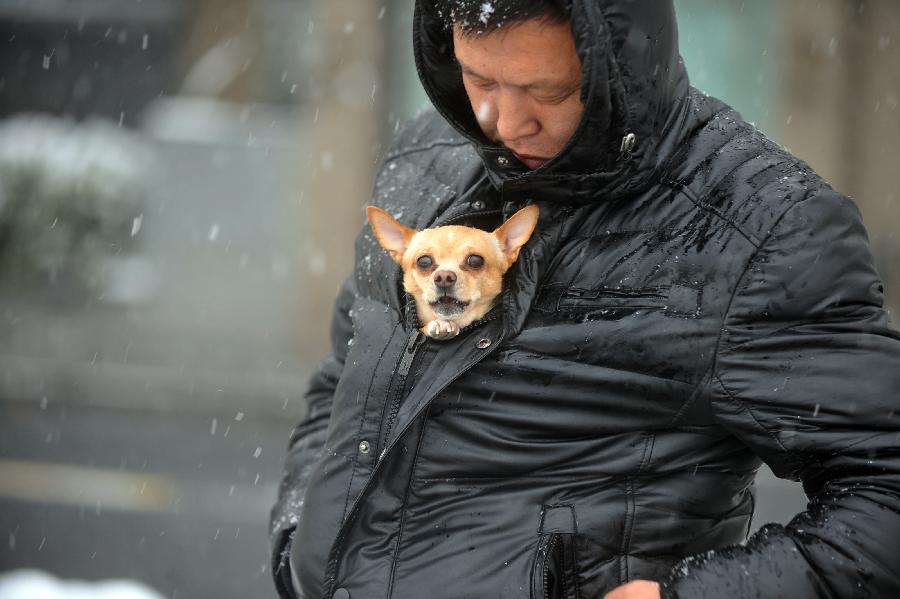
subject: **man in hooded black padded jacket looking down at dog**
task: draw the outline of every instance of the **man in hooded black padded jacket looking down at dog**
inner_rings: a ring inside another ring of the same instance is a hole
[[[900,597],[900,336],[852,203],[690,87],[671,0],[418,0],[414,35],[439,116],[375,202],[541,221],[499,317],[424,345],[360,235],[282,596]],[[763,461],[810,503],[741,544]]]

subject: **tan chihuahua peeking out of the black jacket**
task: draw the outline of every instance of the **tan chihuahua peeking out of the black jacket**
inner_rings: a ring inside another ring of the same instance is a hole
[[[526,206],[489,233],[447,225],[415,231],[369,206],[366,215],[378,243],[403,269],[403,287],[416,300],[419,330],[450,339],[500,301],[503,275],[519,257],[538,221]]]

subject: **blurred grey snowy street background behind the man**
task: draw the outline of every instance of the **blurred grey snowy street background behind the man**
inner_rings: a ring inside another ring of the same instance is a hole
[[[694,84],[856,200],[896,309],[900,3],[676,4]],[[426,103],[411,12],[0,0],[0,577],[273,596],[287,435]],[[804,505],[759,487],[756,525]]]

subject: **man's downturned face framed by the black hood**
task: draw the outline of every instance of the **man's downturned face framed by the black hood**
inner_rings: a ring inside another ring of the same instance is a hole
[[[581,61],[569,25],[531,19],[468,36],[457,25],[453,41],[484,134],[530,169],[556,156],[584,109]]]

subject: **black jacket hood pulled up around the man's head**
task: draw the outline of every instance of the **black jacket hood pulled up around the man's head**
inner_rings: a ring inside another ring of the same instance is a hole
[[[472,142],[498,189],[568,201],[635,193],[652,183],[686,129],[689,83],[672,0],[560,5],[581,59],[584,112],[567,145],[540,168],[529,170],[481,132],[436,0],[416,0],[419,78],[437,110]]]

